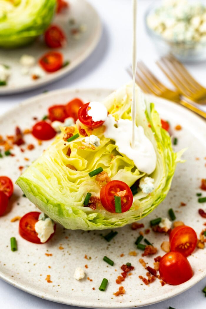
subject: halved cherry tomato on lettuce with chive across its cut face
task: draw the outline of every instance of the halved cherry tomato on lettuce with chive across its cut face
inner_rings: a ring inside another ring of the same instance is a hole
[[[115,213],[115,195],[121,197],[122,212],[128,211],[133,202],[132,191],[125,182],[120,180],[111,180],[101,188],[99,197],[103,207]]]

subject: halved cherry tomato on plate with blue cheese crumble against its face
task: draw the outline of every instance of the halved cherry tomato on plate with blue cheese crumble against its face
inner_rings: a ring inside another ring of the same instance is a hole
[[[37,233],[35,231],[35,223],[38,221],[40,212],[32,211],[30,213],[25,214],[21,220],[19,221],[19,234],[24,239],[30,241],[31,243],[41,243]],[[56,224],[54,225],[54,232],[56,230]],[[52,238],[54,233],[49,237]],[[46,241],[46,243],[49,241]]]

